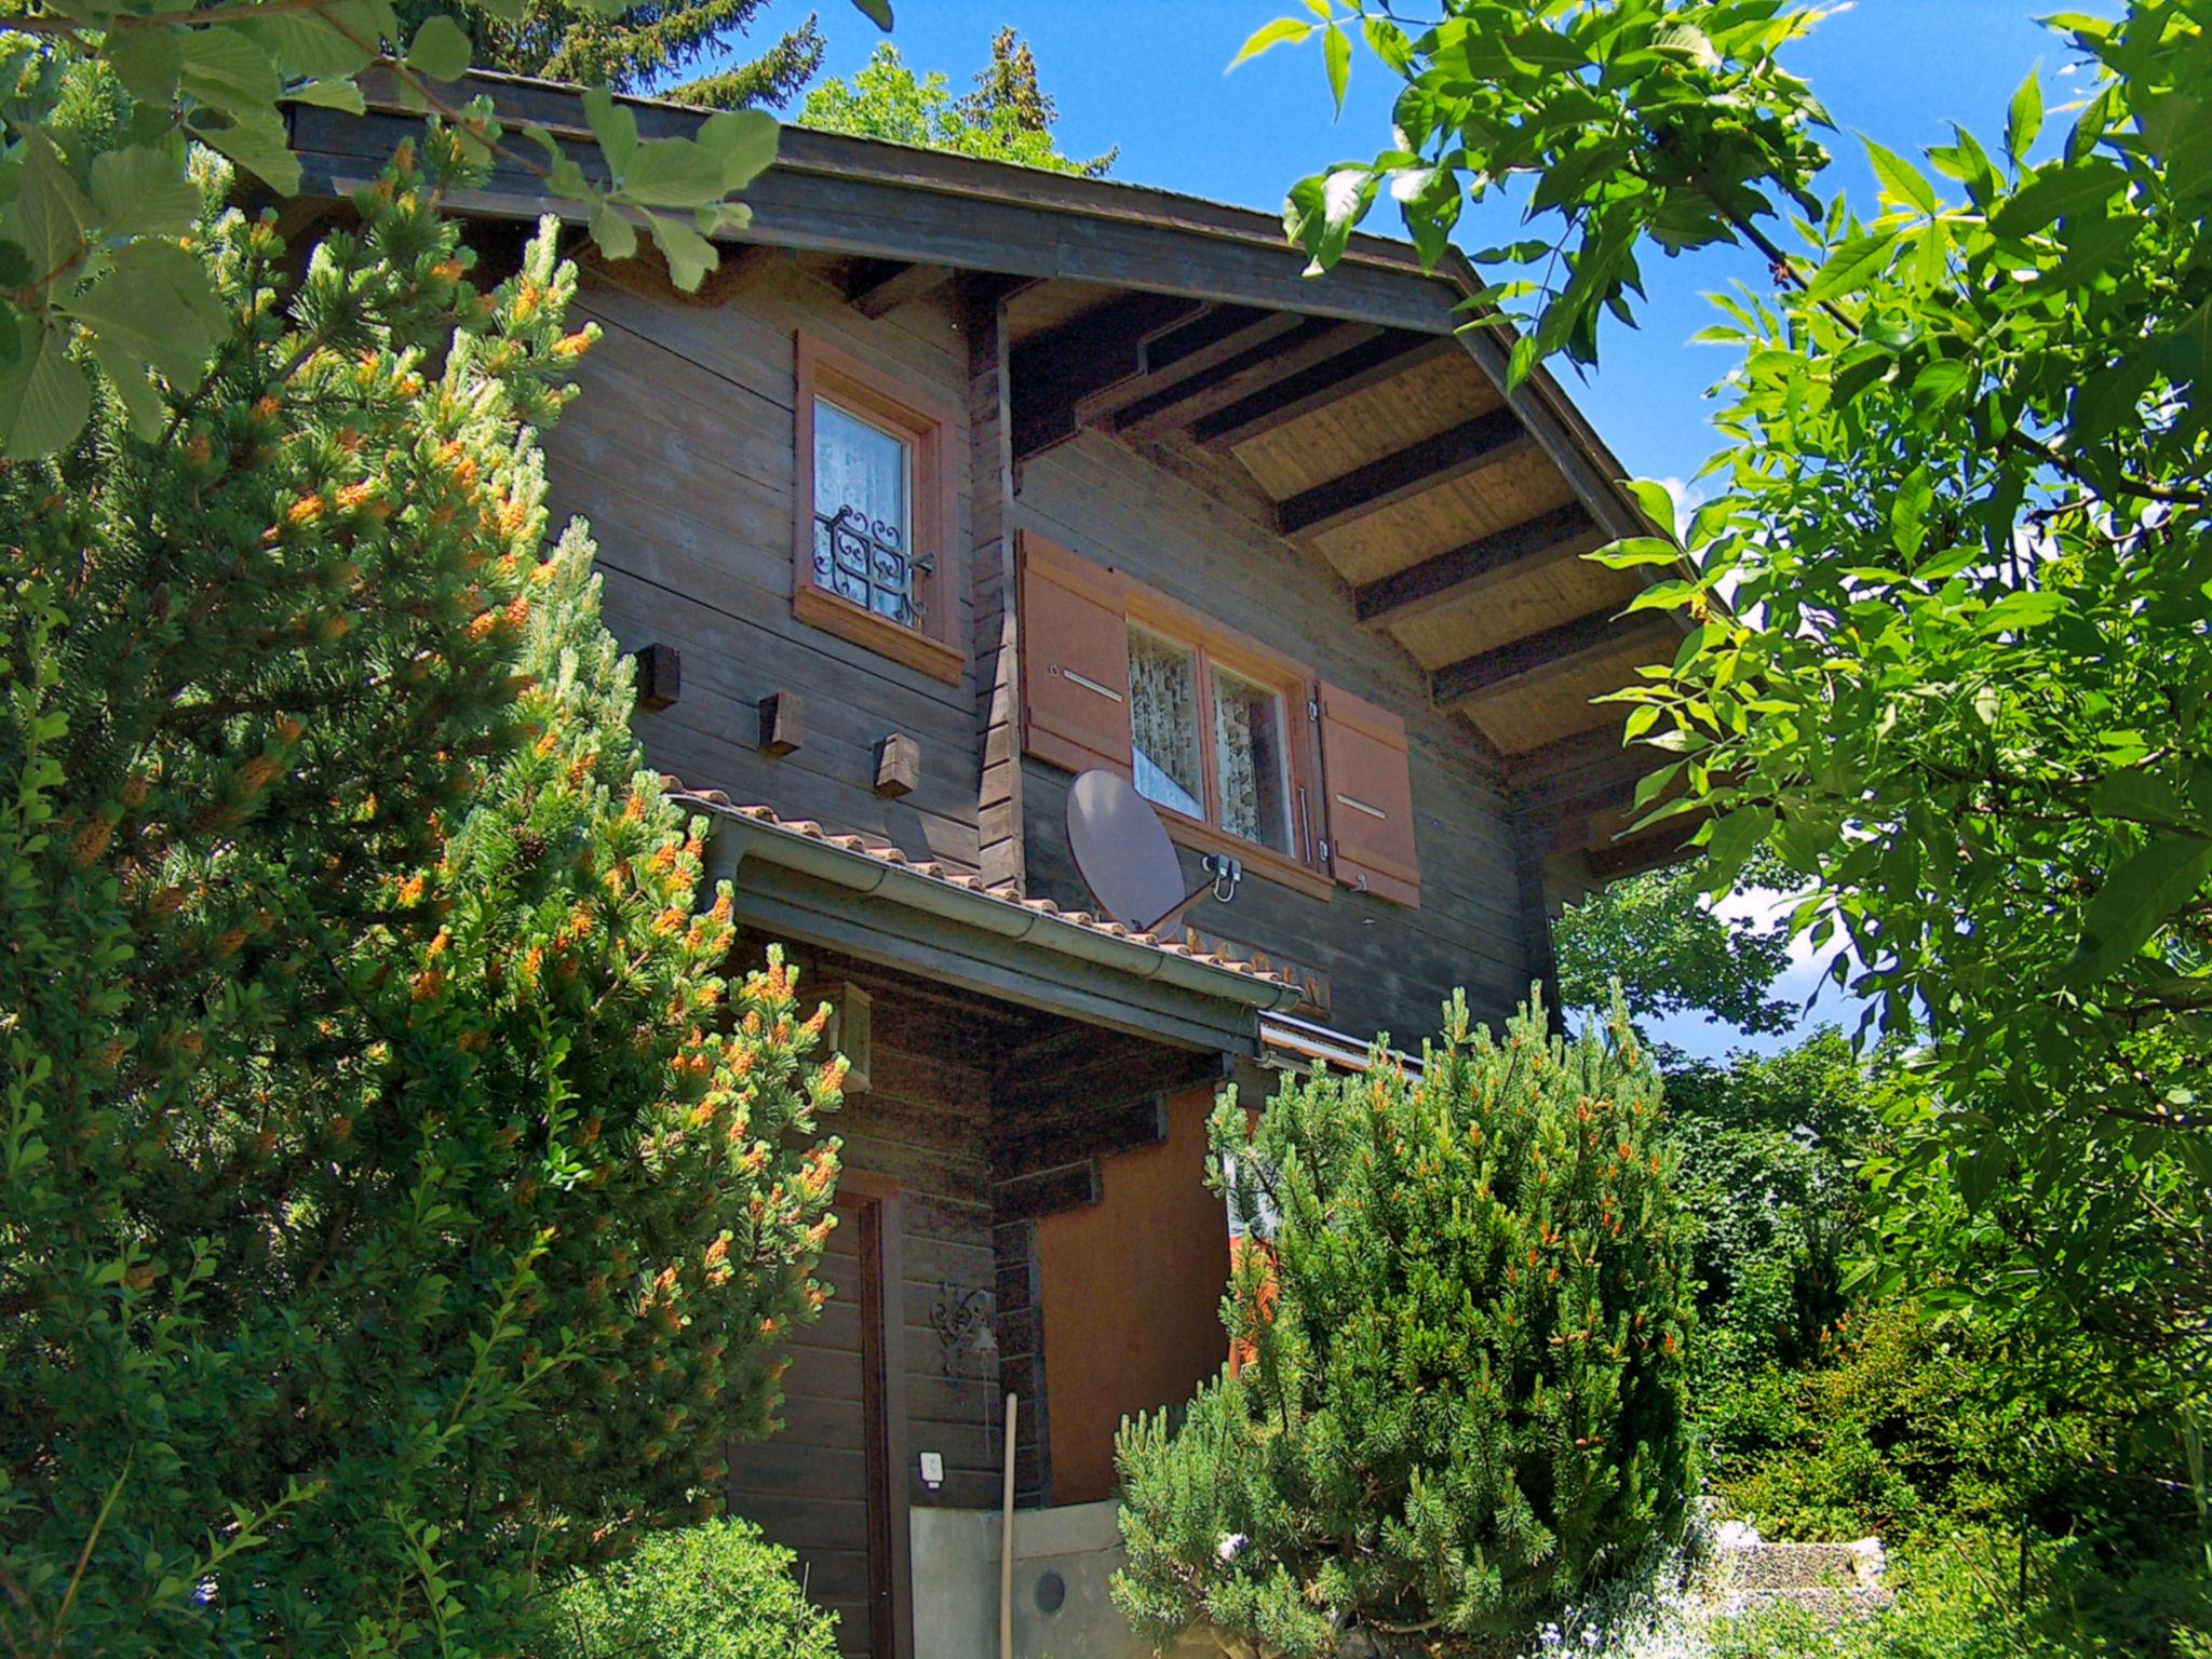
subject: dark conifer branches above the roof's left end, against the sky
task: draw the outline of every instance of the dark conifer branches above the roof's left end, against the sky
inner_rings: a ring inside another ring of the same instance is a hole
[[[529,0],[511,22],[476,7],[467,22],[478,69],[655,93],[703,108],[783,108],[823,64],[827,42],[812,11],[759,58],[686,77],[739,51],[765,7],[768,0],[644,0],[611,13],[593,0]],[[398,38],[411,40],[436,11],[456,7],[403,0]]]

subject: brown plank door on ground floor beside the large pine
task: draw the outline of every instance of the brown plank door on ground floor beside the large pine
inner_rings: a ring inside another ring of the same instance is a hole
[[[807,1595],[838,1615],[841,1652],[900,1659],[885,1340],[898,1199],[887,1186],[858,1190],[856,1177],[841,1186],[814,1274],[830,1303],[792,1338],[783,1431],[730,1455],[730,1509],[799,1553]]]

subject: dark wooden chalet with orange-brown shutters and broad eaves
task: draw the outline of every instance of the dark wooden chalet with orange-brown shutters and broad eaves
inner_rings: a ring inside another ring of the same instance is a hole
[[[593,161],[571,88],[469,91]],[[416,122],[292,119],[332,204]],[[856,1064],[836,1296],[730,1500],[849,1652],[995,1652],[1013,1391],[1020,1650],[1119,1652],[1115,1427],[1225,1356],[1217,1088],[1418,1051],[1453,987],[1500,1020],[1564,898],[1677,852],[1619,838],[1590,701],[1674,624],[1582,557],[1644,529],[1621,467],[1551,378],[1502,392],[1460,261],[1358,237],[1307,279],[1267,215],[796,128],[748,201],[699,294],[580,241],[604,338],[546,445],[646,752]],[[484,248],[571,210],[524,173],[456,206]],[[1093,768],[1234,898],[1097,916]]]

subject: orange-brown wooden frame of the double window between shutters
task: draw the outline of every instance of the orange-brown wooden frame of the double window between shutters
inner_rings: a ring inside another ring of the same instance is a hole
[[[1124,611],[1128,626],[1144,628],[1190,650],[1199,679],[1199,779],[1203,783],[1206,818],[1192,818],[1186,812],[1152,801],[1161,823],[1168,825],[1168,838],[1199,852],[1225,852],[1232,858],[1241,858],[1254,874],[1312,898],[1334,898],[1336,883],[1321,863],[1323,830],[1314,823],[1321,805],[1321,754],[1314,748],[1310,719],[1314,675],[1303,664],[1267,650],[1234,628],[1199,615],[1141,582],[1126,584]],[[1283,757],[1290,772],[1290,852],[1276,852],[1265,843],[1245,841],[1232,830],[1221,827],[1221,783],[1217,776],[1221,761],[1214,754],[1214,664],[1281,697]],[[1135,752],[1135,690],[1130,690],[1130,750]]]

